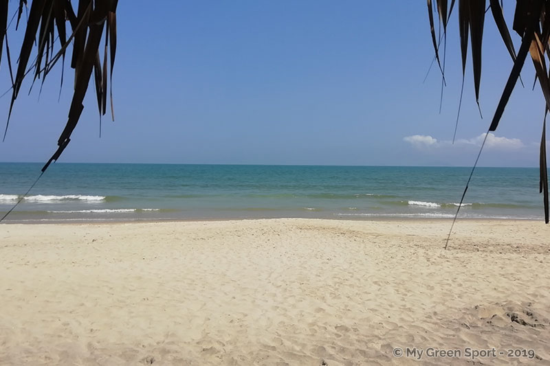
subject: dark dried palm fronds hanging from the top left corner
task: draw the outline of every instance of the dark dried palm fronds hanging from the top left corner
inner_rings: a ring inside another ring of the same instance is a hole
[[[52,161],[57,160],[71,141],[71,134],[78,124],[83,111],[83,100],[88,84],[94,71],[96,96],[100,115],[107,111],[107,76],[109,84],[113,76],[116,49],[116,7],[118,0],[79,0],[78,9],[74,12],[70,0],[19,0],[17,8],[17,27],[21,21],[23,8],[28,9],[28,20],[25,35],[19,52],[17,71],[13,77],[11,58],[8,46],[8,0],[0,0],[0,62],[3,56],[5,40],[6,57],[12,75],[12,100],[8,113],[8,122],[5,125],[3,138],[8,132],[10,116],[17,100],[23,81],[32,75],[32,82],[42,78],[44,82],[58,60],[65,64],[65,54],[69,45],[72,45],[71,67],[74,69],[74,93],[69,117],[65,129],[58,139],[58,148],[54,155],[42,168],[44,172]],[[67,21],[70,32],[67,32]],[[16,29],[17,29],[16,27]],[[69,34],[69,38],[67,38]],[[103,58],[100,58],[100,41],[104,34]],[[56,49],[56,39],[59,40]],[[107,47],[109,45],[110,47]],[[36,58],[29,66],[30,56],[35,49]],[[107,72],[107,52],[110,52],[110,73]],[[63,84],[63,73],[61,83]],[[111,116],[114,120],[113,98],[111,94]]]

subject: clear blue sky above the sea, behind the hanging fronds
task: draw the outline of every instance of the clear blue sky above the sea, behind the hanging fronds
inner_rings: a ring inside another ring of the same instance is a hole
[[[505,3],[511,24],[514,3]],[[10,3],[10,12],[15,6]],[[456,12],[443,103],[426,3],[419,1],[120,1],[115,122],[85,111],[60,162],[471,166],[512,61],[487,12],[480,104],[462,81]],[[12,53],[23,29],[8,30]],[[512,34],[519,45],[519,36]],[[470,57],[470,55],[469,55]],[[24,84],[0,161],[45,162],[67,122],[72,69],[39,95]],[[0,85],[10,86],[5,56]],[[544,101],[527,60],[479,165],[537,166]],[[0,91],[3,92],[3,91]],[[7,117],[10,97],[0,99]],[[4,118],[5,119],[5,118]],[[2,128],[3,130],[3,128]]]

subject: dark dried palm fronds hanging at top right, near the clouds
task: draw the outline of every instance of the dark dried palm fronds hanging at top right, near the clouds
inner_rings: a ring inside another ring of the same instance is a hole
[[[470,35],[470,44],[472,46],[472,69],[474,71],[474,88],[476,93],[476,102],[479,105],[479,86],[481,84],[481,51],[483,44],[483,25],[485,14],[488,9],[485,8],[485,0],[458,0],[459,1],[459,35],[462,56],[462,77],[465,76],[465,65],[468,48],[468,35]],[[452,0],[450,9],[447,10],[447,0],[437,0],[437,6],[428,0],[428,12],[430,20],[430,32],[432,41],[435,40],[434,16],[432,12],[437,12],[441,23],[443,23],[443,35],[446,35],[448,22],[452,12]],[[498,32],[503,39],[514,66],[506,82],[503,94],[500,97],[496,111],[492,117],[489,131],[496,130],[498,122],[504,113],[504,109],[510,98],[511,92],[516,86],[520,72],[525,63],[527,54],[531,54],[533,65],[536,71],[536,80],[540,84],[542,95],[546,100],[546,112],[550,110],[550,78],[549,70],[546,65],[546,58],[550,60],[550,0],[518,0],[514,13],[513,30],[521,38],[521,45],[516,54],[514,44],[512,43],[508,26],[506,25],[502,4],[498,0],[489,0],[489,8],[493,15],[494,22]],[[548,12],[547,12],[548,10]],[[548,16],[547,16],[548,15]],[[434,41],[434,50],[436,58],[439,60],[439,45]],[[441,69],[443,73],[443,69]],[[462,99],[462,95],[461,95]],[[542,109],[542,108],[541,108]],[[546,113],[545,113],[546,115]],[[547,156],[546,156],[546,117],[542,128],[542,140],[540,142],[540,193],[543,193],[544,203],[544,221],[549,222],[549,195],[548,195],[548,176],[547,176]],[[457,121],[458,123],[458,117]],[[456,131],[456,130],[455,130]],[[456,133],[456,132],[455,132]],[[482,146],[483,148],[483,146]],[[474,165],[475,168],[475,165]],[[473,172],[473,170],[472,170]],[[471,176],[470,176],[471,177]],[[467,187],[466,187],[467,189]],[[460,207],[459,207],[460,209]],[[458,212],[457,212],[458,214]]]

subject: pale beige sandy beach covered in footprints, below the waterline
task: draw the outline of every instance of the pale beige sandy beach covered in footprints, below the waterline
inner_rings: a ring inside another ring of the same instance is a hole
[[[550,227],[449,225],[0,225],[0,364],[550,365]]]

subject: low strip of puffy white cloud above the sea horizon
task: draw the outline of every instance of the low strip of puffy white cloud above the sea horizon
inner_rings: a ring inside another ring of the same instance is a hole
[[[485,133],[471,139],[458,139],[454,142],[454,146],[481,146],[485,139]],[[438,141],[436,138],[428,135],[412,135],[403,138],[403,141],[408,142],[415,148],[441,148],[452,146],[452,141]],[[498,137],[494,133],[487,135],[485,148],[499,150],[517,150],[525,145],[520,139],[509,139],[507,137]]]

